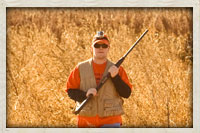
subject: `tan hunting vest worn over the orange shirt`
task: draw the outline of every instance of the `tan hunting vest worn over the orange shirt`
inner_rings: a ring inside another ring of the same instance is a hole
[[[112,65],[114,64],[107,60],[103,76],[108,73],[108,68]],[[81,90],[86,92],[89,88],[97,87],[93,72],[92,59],[79,63],[79,72]],[[92,99],[81,110],[79,115],[96,116],[98,114],[100,117],[121,115],[124,114],[122,104],[122,98],[117,93],[111,79],[108,79],[98,91],[98,96],[92,97]]]

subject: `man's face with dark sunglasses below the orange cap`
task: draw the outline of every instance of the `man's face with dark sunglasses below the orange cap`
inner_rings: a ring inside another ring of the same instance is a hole
[[[95,48],[96,47],[96,48]],[[96,43],[92,46],[93,49],[93,57],[96,59],[106,59],[107,53],[109,51],[109,46],[102,43]]]

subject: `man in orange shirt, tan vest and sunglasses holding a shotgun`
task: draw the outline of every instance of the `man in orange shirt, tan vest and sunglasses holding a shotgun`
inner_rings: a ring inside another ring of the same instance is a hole
[[[93,57],[79,63],[67,81],[68,95],[79,104],[90,94],[92,99],[78,115],[78,127],[120,127],[124,114],[123,98],[131,94],[131,84],[123,67],[117,68],[107,59],[110,49],[108,37],[103,31],[94,36],[91,50]],[[101,89],[95,89],[108,72],[108,79]]]

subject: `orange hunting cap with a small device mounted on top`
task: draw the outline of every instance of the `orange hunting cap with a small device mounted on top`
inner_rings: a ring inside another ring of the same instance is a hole
[[[94,45],[96,43],[106,44],[108,46],[110,45],[108,37],[104,34],[103,31],[97,31],[97,34],[94,36],[94,38],[92,40],[92,45]]]

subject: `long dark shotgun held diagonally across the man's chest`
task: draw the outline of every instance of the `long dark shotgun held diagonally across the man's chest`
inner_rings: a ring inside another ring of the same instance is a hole
[[[126,54],[124,54],[124,56],[122,56],[122,57],[117,61],[117,63],[115,64],[116,67],[119,67],[119,66],[123,63],[123,61],[124,61],[124,59],[126,58],[126,56],[132,51],[132,49],[137,45],[137,43],[143,38],[143,36],[144,36],[147,32],[148,32],[148,29],[145,30],[145,32],[140,36],[140,38],[138,38],[138,40],[133,44],[133,46],[126,52]],[[107,79],[110,78],[110,77],[111,77],[111,75],[110,75],[110,73],[108,73],[106,76],[104,76],[104,77],[101,79],[100,83],[99,83],[98,86],[96,87],[97,92],[98,92],[99,89],[103,86],[103,84],[107,81]],[[92,97],[93,97],[93,95],[90,94],[90,95],[80,104],[80,106],[78,106],[78,107],[75,109],[74,114],[78,114],[78,113],[83,109],[83,107],[88,103],[88,101],[89,101],[90,99],[92,99]]]

